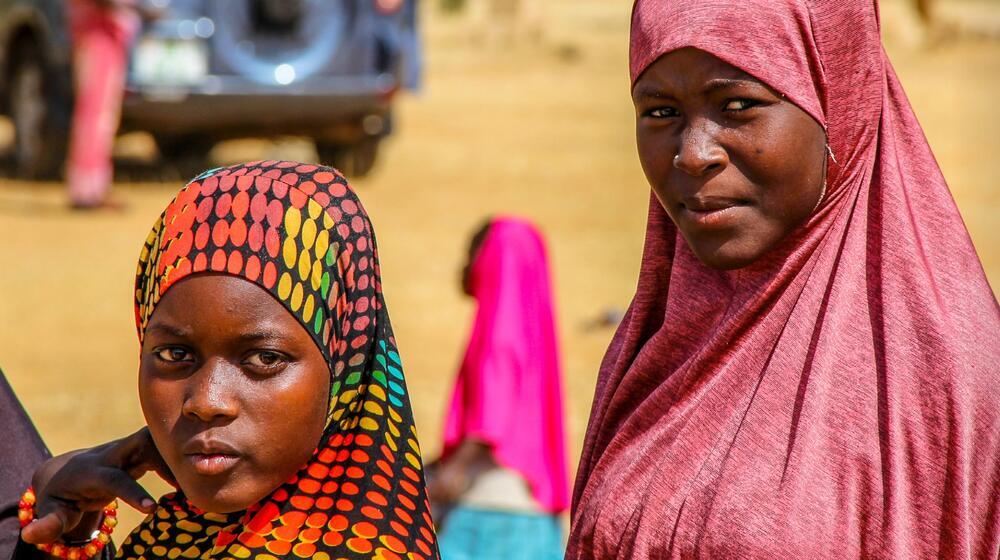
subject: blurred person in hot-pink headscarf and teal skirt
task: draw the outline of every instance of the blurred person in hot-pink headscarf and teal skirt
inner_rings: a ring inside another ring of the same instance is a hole
[[[445,560],[563,556],[569,504],[559,355],[538,231],[497,219],[473,237],[464,289],[479,305],[430,483]]]

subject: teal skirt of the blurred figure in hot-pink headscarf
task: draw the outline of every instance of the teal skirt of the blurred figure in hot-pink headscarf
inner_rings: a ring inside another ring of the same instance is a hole
[[[441,560],[562,560],[559,518],[458,506],[438,534]]]

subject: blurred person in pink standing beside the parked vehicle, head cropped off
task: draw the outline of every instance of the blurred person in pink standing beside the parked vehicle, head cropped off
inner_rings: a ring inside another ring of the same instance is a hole
[[[70,203],[96,208],[108,202],[128,48],[139,16],[124,0],[71,0],[69,21],[76,101],[66,177]]]

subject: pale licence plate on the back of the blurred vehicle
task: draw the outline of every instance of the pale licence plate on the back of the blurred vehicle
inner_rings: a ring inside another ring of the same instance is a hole
[[[208,74],[208,50],[200,40],[144,37],[133,55],[133,72],[143,85],[196,85]]]

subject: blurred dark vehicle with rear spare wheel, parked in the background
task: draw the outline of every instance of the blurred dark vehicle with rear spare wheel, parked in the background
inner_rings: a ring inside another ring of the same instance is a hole
[[[354,176],[375,163],[401,88],[416,87],[416,0],[150,0],[162,17],[132,49],[120,131],[143,130],[192,171],[212,145],[312,138]],[[0,0],[0,112],[14,167],[59,174],[72,112],[64,0]]]

